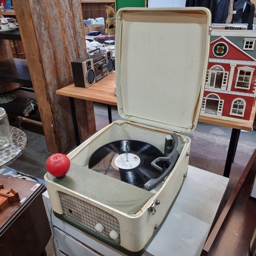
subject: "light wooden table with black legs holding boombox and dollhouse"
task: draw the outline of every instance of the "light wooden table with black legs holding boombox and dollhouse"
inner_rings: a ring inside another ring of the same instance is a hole
[[[61,88],[56,91],[56,94],[68,96],[70,98],[70,105],[71,105],[77,145],[80,145],[80,139],[78,135],[74,98],[91,100],[91,101],[107,104],[109,121],[111,123],[112,122],[111,105],[114,105],[114,106],[117,105],[116,95],[114,94],[114,85],[115,85],[115,72],[111,73],[110,75],[106,76],[102,80],[98,81],[97,83],[93,84],[91,87],[86,89],[75,87],[73,83],[73,84],[70,84],[70,86]],[[254,110],[251,114],[249,123],[228,121],[228,120],[223,120],[223,119],[208,117],[208,116],[199,116],[199,120],[198,120],[199,122],[216,124],[216,125],[232,128],[229,147],[228,147],[228,153],[227,153],[227,159],[226,159],[226,164],[225,164],[224,174],[223,174],[223,176],[225,177],[229,177],[233,158],[234,158],[234,155],[236,154],[239,135],[241,130],[245,130],[245,131],[252,130],[255,111],[256,111],[256,106],[254,107]]]

